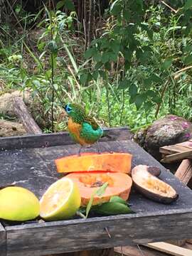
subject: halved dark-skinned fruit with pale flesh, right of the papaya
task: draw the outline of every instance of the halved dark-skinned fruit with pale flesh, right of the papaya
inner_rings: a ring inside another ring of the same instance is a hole
[[[132,180],[140,193],[159,203],[171,203],[178,198],[174,188],[149,173],[149,166],[135,166],[132,169]]]

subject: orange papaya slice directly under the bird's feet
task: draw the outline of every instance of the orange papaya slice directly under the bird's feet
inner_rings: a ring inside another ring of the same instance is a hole
[[[114,171],[128,174],[131,170],[132,155],[128,153],[84,153],[55,159],[59,173],[75,171]]]

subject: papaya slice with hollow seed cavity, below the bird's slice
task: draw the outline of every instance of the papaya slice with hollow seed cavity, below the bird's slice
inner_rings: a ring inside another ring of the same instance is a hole
[[[76,172],[68,174],[65,177],[68,177],[77,183],[80,190],[82,206],[87,206],[92,193],[105,182],[108,183],[105,193],[101,197],[95,195],[92,205],[108,202],[112,196],[119,196],[123,200],[127,201],[132,188],[132,178],[123,173],[97,171],[92,173]]]

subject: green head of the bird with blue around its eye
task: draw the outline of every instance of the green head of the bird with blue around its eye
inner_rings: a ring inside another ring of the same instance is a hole
[[[78,104],[68,103],[65,105],[65,111],[73,122],[82,123],[85,120],[85,110]]]

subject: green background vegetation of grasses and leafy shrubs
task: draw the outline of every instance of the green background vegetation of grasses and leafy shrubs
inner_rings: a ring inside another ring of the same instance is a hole
[[[192,119],[191,0],[0,0],[0,90],[30,90],[44,132],[79,102],[133,131]],[[4,117],[5,118],[5,117]]]

